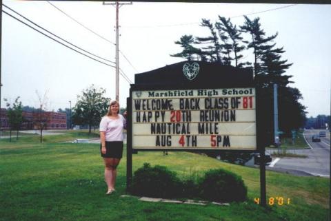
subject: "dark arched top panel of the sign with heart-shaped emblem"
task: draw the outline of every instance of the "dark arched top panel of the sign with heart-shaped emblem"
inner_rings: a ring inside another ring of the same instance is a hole
[[[136,74],[135,85],[176,85],[183,87],[253,87],[253,72],[204,61],[183,61],[149,72]]]

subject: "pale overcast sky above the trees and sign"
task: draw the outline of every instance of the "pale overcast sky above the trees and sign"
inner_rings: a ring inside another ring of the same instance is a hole
[[[108,41],[72,21],[50,3]],[[115,61],[114,6],[90,1],[50,3],[3,1],[70,43]],[[19,17],[6,7],[3,10]],[[208,30],[199,26],[201,19],[214,22],[221,15],[242,25],[243,14],[251,14],[250,19],[260,17],[261,28],[268,36],[279,33],[275,42],[286,51],[283,59],[293,63],[286,74],[293,76],[290,79],[295,83],[290,86],[301,91],[307,116],[330,115],[330,5],[133,2],[119,9],[120,68],[134,82],[134,74],[183,61],[170,56],[181,51],[174,41],[183,34],[207,36]],[[5,107],[3,98],[13,102],[17,96],[21,96],[23,105],[37,107],[37,90],[41,95],[47,92],[48,109],[69,108],[69,101],[73,106],[77,94],[92,84],[105,88],[106,96],[115,98],[114,67],[69,50],[4,13],[1,50],[1,107]],[[249,54],[246,52],[245,59],[252,62]],[[119,85],[120,103],[126,107],[130,84],[120,76]]]

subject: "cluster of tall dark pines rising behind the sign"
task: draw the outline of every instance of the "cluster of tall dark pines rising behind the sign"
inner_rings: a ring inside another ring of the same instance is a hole
[[[248,17],[239,26],[221,16],[214,23],[202,19],[200,26],[206,28],[208,36],[181,36],[179,41],[174,42],[181,46],[181,52],[170,56],[251,69],[261,92],[260,103],[263,103],[260,116],[265,120],[261,127],[266,129],[270,142],[274,136],[274,84],[278,87],[279,129],[290,134],[292,129],[303,127],[306,112],[299,102],[303,97],[297,88],[289,86],[294,82],[290,81],[292,75],[285,72],[292,63],[281,57],[285,50],[274,42],[278,33],[268,36],[261,28],[259,18]],[[250,58],[252,61],[248,61]]]

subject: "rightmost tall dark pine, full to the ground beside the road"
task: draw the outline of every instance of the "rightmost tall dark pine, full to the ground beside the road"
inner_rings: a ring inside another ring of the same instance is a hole
[[[292,77],[284,75],[288,67],[292,63],[288,60],[281,60],[281,54],[285,52],[283,48],[275,48],[276,43],[272,43],[276,39],[278,33],[272,36],[265,36],[265,32],[261,29],[259,18],[254,20],[245,17],[245,23],[241,26],[243,32],[248,32],[252,37],[248,41],[248,48],[254,51],[254,78],[255,82],[261,87],[261,96],[263,103],[273,101],[273,85],[277,84],[278,90],[278,112],[279,112],[279,128],[290,134],[291,129],[298,129],[305,123],[305,107],[299,103],[302,98],[299,90],[296,88],[288,87],[288,83]],[[274,120],[272,118],[273,109],[272,104],[269,103],[268,107],[263,107],[264,121],[263,125],[267,133],[272,137],[272,125]],[[270,113],[270,114],[268,114]],[[268,116],[269,115],[269,116]],[[269,127],[268,127],[269,125]],[[268,128],[268,129],[267,129]]]

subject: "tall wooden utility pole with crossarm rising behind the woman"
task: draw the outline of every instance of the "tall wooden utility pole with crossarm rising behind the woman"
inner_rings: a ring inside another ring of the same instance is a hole
[[[115,48],[115,63],[116,63],[116,101],[119,101],[119,8],[123,5],[132,5],[132,1],[130,3],[119,3],[116,1],[115,3],[107,3],[103,1],[103,5],[112,5],[116,7],[116,48]]]

